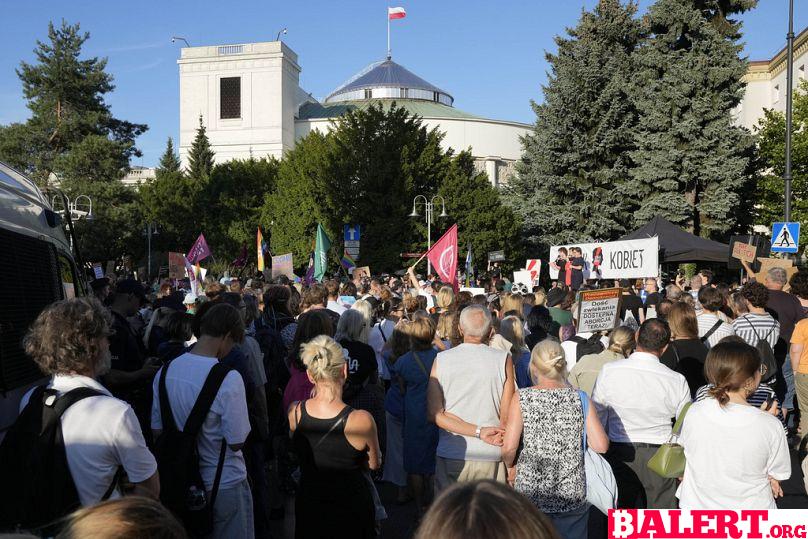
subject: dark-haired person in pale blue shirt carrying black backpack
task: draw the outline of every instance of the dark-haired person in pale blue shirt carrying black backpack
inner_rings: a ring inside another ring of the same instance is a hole
[[[182,430],[196,403],[210,370],[225,357],[236,342],[244,337],[241,314],[232,305],[215,305],[200,321],[200,337],[193,353],[186,353],[169,363],[166,392],[174,421]],[[160,377],[154,378],[152,429],[155,439],[163,422],[160,410]],[[225,376],[199,433],[199,472],[208,491],[212,489],[219,464],[222,442],[227,444],[222,465],[219,491],[213,508],[212,537],[254,537],[253,506],[247,468],[241,451],[250,433],[244,381],[236,371]]]

